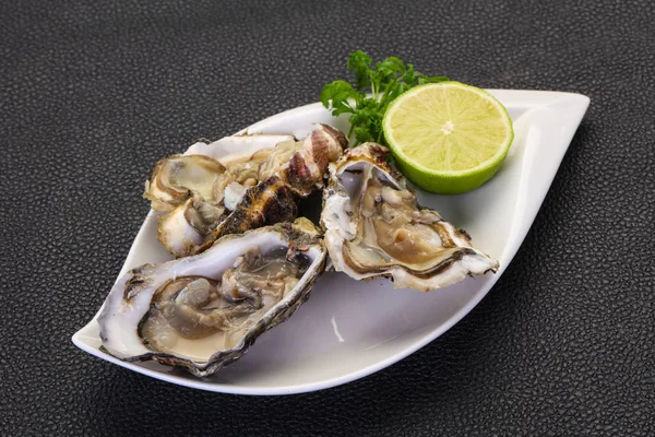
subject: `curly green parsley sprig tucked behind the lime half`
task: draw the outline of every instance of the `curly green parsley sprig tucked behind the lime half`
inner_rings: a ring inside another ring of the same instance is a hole
[[[355,86],[344,80],[331,82],[323,86],[321,102],[335,117],[350,114],[348,138],[355,135],[353,145],[367,141],[384,143],[382,118],[390,103],[413,86],[450,80],[444,75],[425,75],[395,56],[373,64],[361,50],[350,54],[348,70],[355,73]]]

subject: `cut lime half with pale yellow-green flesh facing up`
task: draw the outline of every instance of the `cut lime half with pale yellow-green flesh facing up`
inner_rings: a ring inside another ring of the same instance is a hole
[[[489,180],[514,139],[504,106],[460,82],[404,93],[386,109],[383,130],[403,174],[441,194],[471,191]]]

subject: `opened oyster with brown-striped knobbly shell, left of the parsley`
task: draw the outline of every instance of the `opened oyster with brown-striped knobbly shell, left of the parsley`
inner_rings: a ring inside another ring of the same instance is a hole
[[[259,135],[260,143],[263,137]],[[289,141],[288,135],[271,138],[287,140],[251,155],[226,156],[223,163],[204,155],[175,155],[157,163],[144,197],[153,209],[166,212],[157,228],[166,250],[176,257],[194,255],[236,229],[294,220],[298,198],[323,187],[327,164],[346,145],[345,135],[326,125],[319,125],[301,142]],[[253,141],[228,139],[224,140]],[[211,153],[207,147],[202,151]]]

